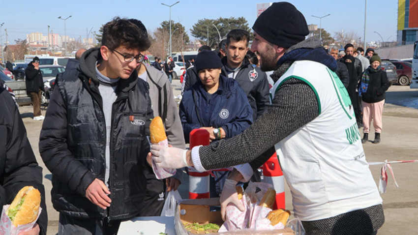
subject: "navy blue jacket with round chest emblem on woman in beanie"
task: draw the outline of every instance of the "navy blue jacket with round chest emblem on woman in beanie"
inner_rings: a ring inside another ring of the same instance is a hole
[[[200,127],[221,127],[226,138],[238,135],[253,122],[253,112],[244,90],[231,78],[219,77],[219,88],[207,99],[205,86],[196,82],[188,88],[181,100],[179,113],[184,139]]]

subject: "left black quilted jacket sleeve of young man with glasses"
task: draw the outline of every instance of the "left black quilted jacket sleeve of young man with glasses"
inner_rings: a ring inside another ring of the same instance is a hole
[[[57,79],[60,79],[59,77]],[[96,176],[75,159],[67,147],[67,111],[59,84],[52,92],[39,137],[39,152],[45,166],[71,190],[85,196]]]

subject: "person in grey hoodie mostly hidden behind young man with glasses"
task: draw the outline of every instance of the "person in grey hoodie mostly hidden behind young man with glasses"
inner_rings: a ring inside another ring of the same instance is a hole
[[[129,21],[135,24],[143,35],[148,37],[147,29],[141,21],[136,19],[129,19]],[[141,52],[141,54],[143,53],[145,52]],[[136,71],[138,77],[149,85],[151,108],[154,117],[159,116],[163,120],[168,144],[173,147],[185,148],[179,111],[173,96],[173,88],[167,76],[158,69],[147,66],[144,62],[137,67]],[[144,176],[147,180],[147,191],[142,206],[140,206],[141,211],[137,216],[160,216],[166,199],[166,192],[177,190],[183,178],[182,171],[177,171],[175,176],[167,179],[157,179],[152,168],[146,164],[144,166]]]

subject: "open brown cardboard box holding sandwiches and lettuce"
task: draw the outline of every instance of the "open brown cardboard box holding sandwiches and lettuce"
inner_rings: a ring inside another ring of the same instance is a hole
[[[195,235],[187,232],[183,222],[187,223],[215,223],[219,226],[223,224],[220,211],[210,211],[210,206],[219,206],[219,198],[184,200],[176,208],[174,217],[174,228],[177,235]],[[292,229],[255,231],[242,230],[231,233],[214,233],[217,235],[295,235]]]

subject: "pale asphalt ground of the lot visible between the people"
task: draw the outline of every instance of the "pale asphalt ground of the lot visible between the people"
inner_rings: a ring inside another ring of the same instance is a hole
[[[180,93],[179,80],[173,80],[174,95]],[[418,133],[418,109],[402,107],[395,104],[403,104],[408,101],[418,100],[418,89],[409,87],[392,86],[388,89],[387,99],[383,113],[383,131],[380,144],[370,142],[363,145],[368,162],[383,162],[396,160],[418,160],[417,156],[417,133]],[[38,142],[39,133],[43,121],[33,120],[33,108],[22,106],[19,108],[25,123],[28,138],[39,165],[43,168],[43,183],[45,185],[47,211],[48,211],[48,235],[58,233],[58,212],[51,203],[50,191],[51,173],[46,169],[39,155]],[[45,109],[42,110],[45,116]],[[362,136],[362,130],[360,129]],[[371,132],[373,133],[373,132]],[[369,139],[373,139],[370,134]],[[379,183],[380,170],[382,165],[371,165],[370,170],[376,181]],[[395,179],[399,187],[395,186],[393,179],[388,172],[387,192],[381,194],[385,211],[385,224],[379,230],[379,235],[393,234],[417,234],[418,232],[418,162],[417,163],[395,163],[391,164]],[[187,177],[179,187],[183,199],[188,197]],[[285,184],[286,208],[292,210],[292,200],[289,187]],[[293,213],[292,213],[293,215]]]

